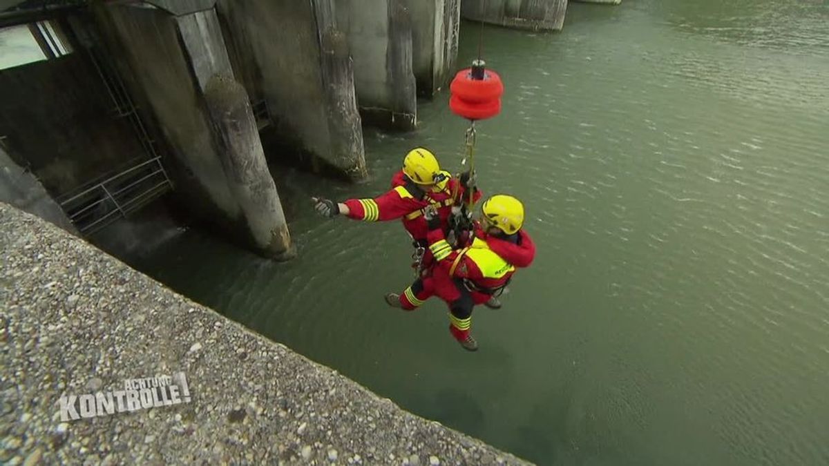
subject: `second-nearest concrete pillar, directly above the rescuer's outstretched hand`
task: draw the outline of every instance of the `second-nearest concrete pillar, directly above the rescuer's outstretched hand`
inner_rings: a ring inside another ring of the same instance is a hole
[[[265,100],[279,136],[360,180],[367,176],[360,115],[351,73],[332,64],[347,60],[323,51],[333,22],[332,0],[238,2],[216,7],[240,82]]]

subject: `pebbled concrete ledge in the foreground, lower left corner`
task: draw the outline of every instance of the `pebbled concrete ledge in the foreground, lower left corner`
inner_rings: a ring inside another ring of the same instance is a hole
[[[524,464],[35,216],[0,204],[0,225],[0,463]],[[61,395],[174,371],[190,403],[61,424]]]

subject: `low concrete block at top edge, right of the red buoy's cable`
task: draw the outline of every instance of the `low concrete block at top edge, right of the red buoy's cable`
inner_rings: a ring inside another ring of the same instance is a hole
[[[567,0],[462,0],[461,16],[532,31],[560,31]]]

